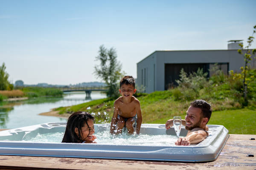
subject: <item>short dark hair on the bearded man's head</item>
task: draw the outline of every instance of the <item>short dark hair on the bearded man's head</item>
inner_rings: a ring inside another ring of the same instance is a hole
[[[207,117],[208,122],[209,122],[210,117],[212,115],[212,108],[209,103],[207,103],[206,101],[204,101],[202,99],[200,99],[200,100],[197,99],[197,100],[191,102],[190,105],[195,108],[201,108],[203,117]]]

